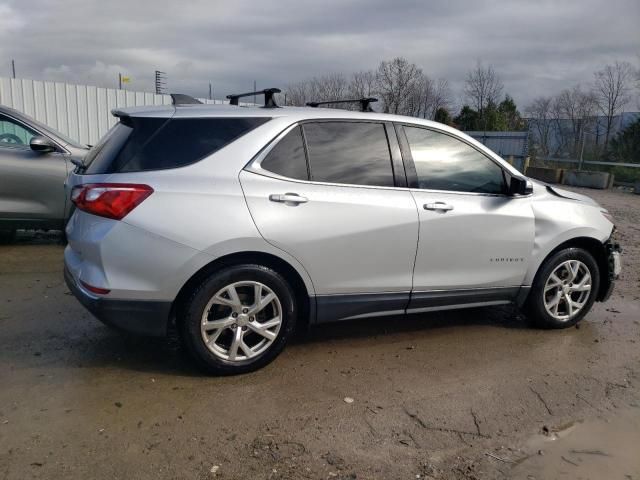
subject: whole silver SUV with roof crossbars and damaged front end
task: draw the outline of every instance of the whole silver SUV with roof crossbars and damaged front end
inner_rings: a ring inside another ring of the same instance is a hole
[[[113,113],[68,180],[67,284],[106,324],[175,325],[210,372],[334,320],[514,303],[564,328],[620,270],[606,210],[439,123],[272,101]]]

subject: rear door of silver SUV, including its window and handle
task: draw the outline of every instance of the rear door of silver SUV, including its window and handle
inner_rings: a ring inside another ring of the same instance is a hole
[[[393,126],[324,121],[283,132],[240,175],[262,236],[295,257],[318,319],[401,312],[411,290],[418,216]],[[392,140],[392,161],[387,133]],[[308,157],[308,159],[307,159]]]

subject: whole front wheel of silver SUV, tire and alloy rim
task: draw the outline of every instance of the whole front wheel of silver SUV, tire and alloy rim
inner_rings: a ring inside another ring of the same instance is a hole
[[[599,288],[600,270],[593,255],[582,248],[565,248],[538,270],[525,314],[538,328],[571,327],[589,313]]]

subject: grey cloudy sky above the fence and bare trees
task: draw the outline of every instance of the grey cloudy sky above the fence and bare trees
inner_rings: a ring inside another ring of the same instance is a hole
[[[403,56],[449,80],[491,64],[524,107],[588,85],[615,60],[640,65],[638,0],[0,0],[0,76],[216,97]]]

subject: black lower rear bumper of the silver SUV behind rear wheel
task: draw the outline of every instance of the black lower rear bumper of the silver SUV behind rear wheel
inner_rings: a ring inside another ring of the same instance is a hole
[[[102,323],[138,335],[167,334],[171,302],[94,297],[78,287],[66,266],[64,280],[80,303]]]

